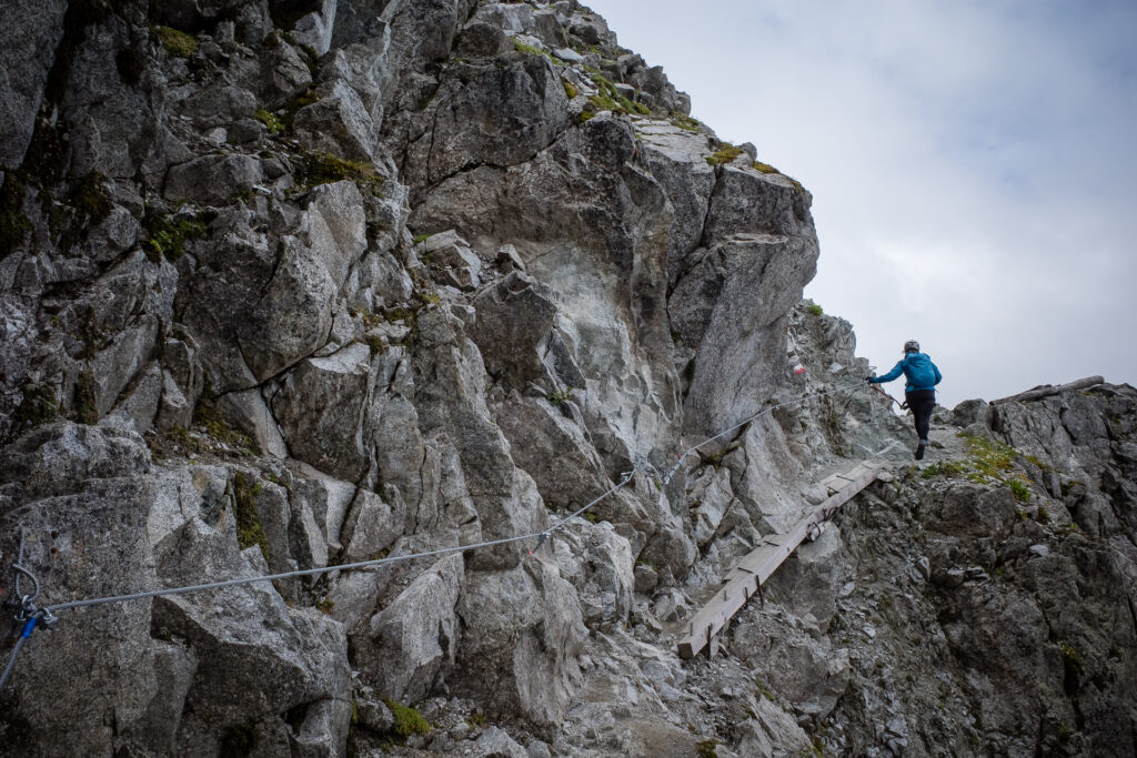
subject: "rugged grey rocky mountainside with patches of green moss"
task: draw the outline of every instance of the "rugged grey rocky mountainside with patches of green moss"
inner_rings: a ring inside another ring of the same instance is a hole
[[[939,460],[675,657],[813,482],[907,436],[799,305],[810,194],[587,8],[9,16],[5,567],[23,542],[41,607],[327,570],[60,611],[0,692],[8,752],[1132,751],[1130,388],[944,411]],[[625,475],[540,544],[339,568]]]

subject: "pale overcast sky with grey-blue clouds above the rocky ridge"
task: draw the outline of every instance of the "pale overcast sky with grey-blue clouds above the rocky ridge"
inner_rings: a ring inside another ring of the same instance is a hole
[[[948,407],[1137,384],[1137,2],[586,5],[813,193],[806,297],[880,373],[915,338]]]

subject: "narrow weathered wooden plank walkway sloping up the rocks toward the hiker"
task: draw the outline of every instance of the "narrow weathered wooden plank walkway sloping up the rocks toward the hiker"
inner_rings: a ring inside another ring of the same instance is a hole
[[[727,574],[722,590],[691,617],[687,636],[679,641],[680,657],[694,658],[707,647],[714,635],[757,592],[758,586],[805,541],[810,527],[827,520],[833,511],[872,483],[878,473],[875,465],[858,465],[843,476],[848,481],[836,494],[819,503],[788,532],[763,540],[763,544],[744,556]]]

